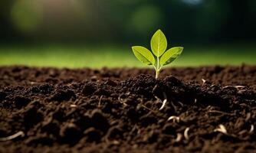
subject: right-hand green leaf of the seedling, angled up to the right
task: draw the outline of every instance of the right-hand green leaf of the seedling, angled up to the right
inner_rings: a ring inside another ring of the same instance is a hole
[[[172,63],[180,54],[182,54],[183,47],[172,47],[162,55],[160,64],[162,66]]]

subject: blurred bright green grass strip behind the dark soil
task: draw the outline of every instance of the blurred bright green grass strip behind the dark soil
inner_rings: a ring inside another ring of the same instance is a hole
[[[184,46],[179,59],[169,66],[256,65],[256,45]],[[34,67],[146,67],[130,47],[117,45],[0,45],[0,65]]]

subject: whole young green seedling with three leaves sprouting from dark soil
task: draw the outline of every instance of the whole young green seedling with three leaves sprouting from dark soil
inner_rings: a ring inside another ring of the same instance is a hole
[[[133,54],[146,65],[153,65],[156,70],[156,79],[159,77],[161,68],[173,60],[176,60],[182,54],[183,47],[167,48],[167,40],[165,34],[161,30],[156,31],[150,41],[151,51],[142,46],[133,46]],[[153,53],[153,54],[152,54]]]

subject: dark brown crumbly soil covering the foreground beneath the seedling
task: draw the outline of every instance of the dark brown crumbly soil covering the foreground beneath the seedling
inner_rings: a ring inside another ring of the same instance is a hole
[[[0,152],[256,152],[256,66],[0,67]]]

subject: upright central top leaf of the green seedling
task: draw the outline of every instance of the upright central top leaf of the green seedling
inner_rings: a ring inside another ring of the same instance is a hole
[[[156,57],[161,57],[167,47],[167,40],[165,34],[161,30],[156,31],[150,41],[151,50]]]

